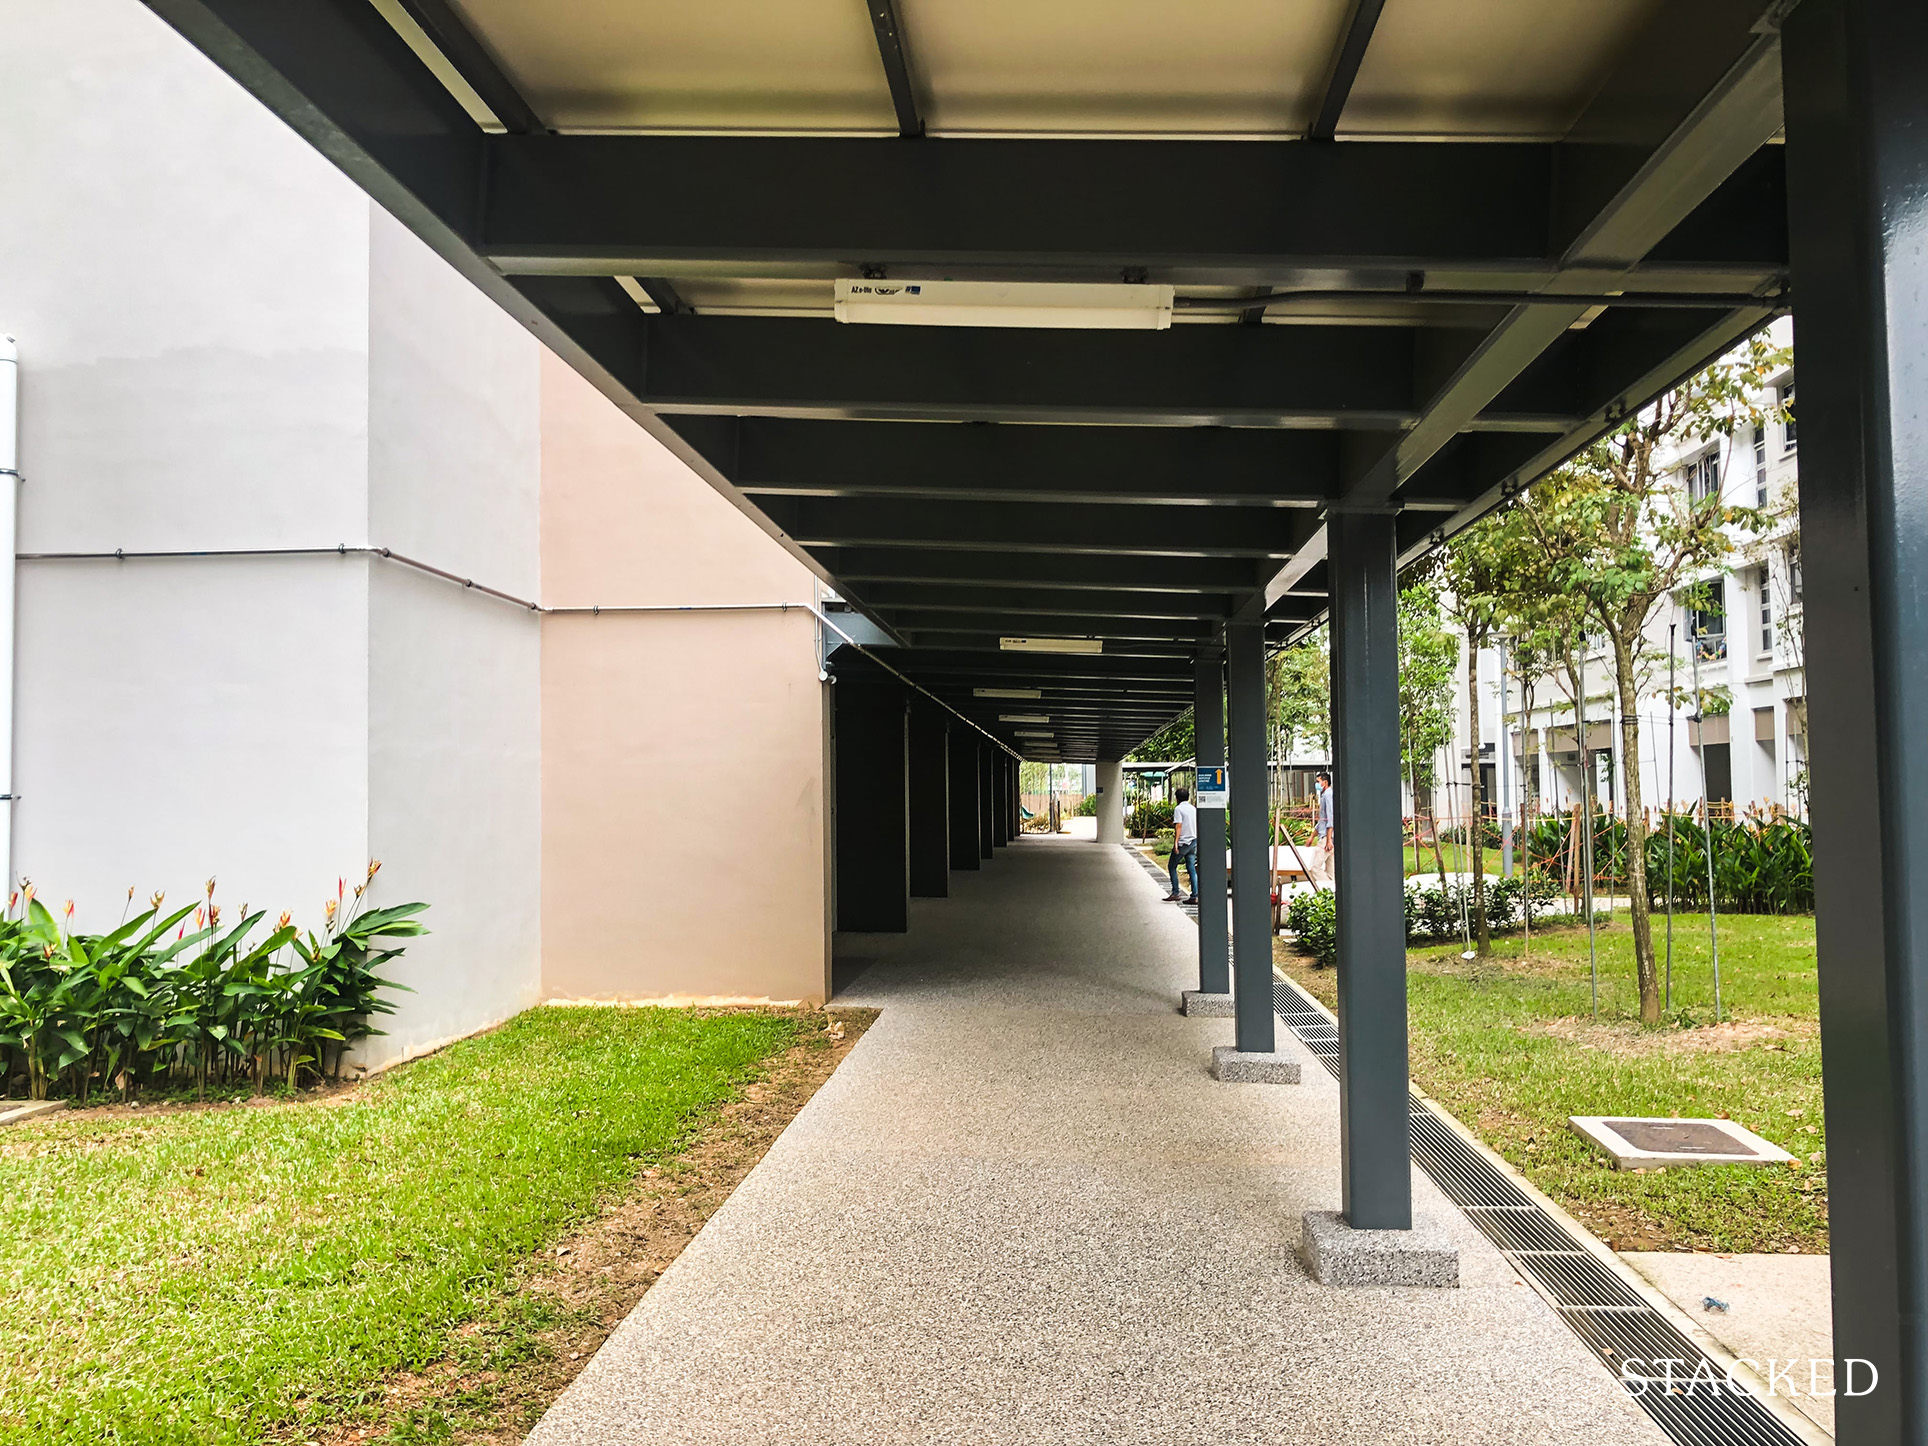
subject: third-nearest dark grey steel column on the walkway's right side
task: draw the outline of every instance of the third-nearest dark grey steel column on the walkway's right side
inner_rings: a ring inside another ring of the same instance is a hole
[[[1238,1008],[1238,1049],[1271,1055],[1272,870],[1265,856],[1271,812],[1265,796],[1263,623],[1226,627],[1224,681],[1232,752],[1232,995]]]

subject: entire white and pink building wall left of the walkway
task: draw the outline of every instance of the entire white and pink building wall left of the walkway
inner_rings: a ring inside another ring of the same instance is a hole
[[[821,999],[816,578],[150,10],[0,27],[13,879],[320,929],[380,858],[368,1064]]]

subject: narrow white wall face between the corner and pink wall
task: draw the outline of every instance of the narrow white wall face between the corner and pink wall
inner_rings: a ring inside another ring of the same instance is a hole
[[[538,598],[540,349],[399,222],[370,208],[368,540]],[[415,989],[370,1057],[499,1020],[542,979],[542,621],[374,563],[368,852],[374,902],[426,898]]]

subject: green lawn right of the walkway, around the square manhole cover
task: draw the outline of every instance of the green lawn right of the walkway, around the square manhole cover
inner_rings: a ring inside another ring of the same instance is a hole
[[[1664,924],[1654,922],[1656,949]],[[1407,958],[1413,1080],[1562,1205],[1623,1249],[1828,1249],[1826,1124],[1816,1031],[1814,922],[1720,920],[1722,1028],[1706,914],[1674,933],[1674,1014],[1643,1030],[1625,912],[1600,929],[1600,1022],[1585,927],[1459,945]],[[1290,972],[1330,1004],[1330,970]],[[1801,1157],[1803,1168],[1614,1170],[1569,1114],[1727,1114]]]

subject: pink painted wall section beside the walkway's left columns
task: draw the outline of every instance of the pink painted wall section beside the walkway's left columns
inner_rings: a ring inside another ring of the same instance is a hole
[[[808,603],[814,584],[544,353],[542,592]],[[808,611],[542,619],[546,997],[823,999],[821,690]]]

